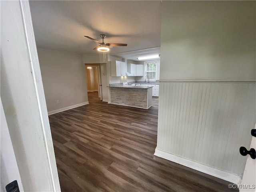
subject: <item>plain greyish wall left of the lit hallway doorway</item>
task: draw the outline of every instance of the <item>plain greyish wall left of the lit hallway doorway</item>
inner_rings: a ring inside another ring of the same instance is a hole
[[[48,112],[88,102],[82,55],[38,48],[38,58]]]

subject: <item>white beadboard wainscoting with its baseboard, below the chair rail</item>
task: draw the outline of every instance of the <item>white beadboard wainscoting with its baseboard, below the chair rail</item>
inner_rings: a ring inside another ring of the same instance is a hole
[[[255,81],[160,81],[155,155],[238,184],[255,106]]]

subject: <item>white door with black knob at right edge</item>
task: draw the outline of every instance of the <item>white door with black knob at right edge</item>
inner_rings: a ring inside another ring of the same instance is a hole
[[[252,137],[250,148],[256,148],[256,137]],[[238,188],[240,192],[256,191],[256,159],[252,159],[249,155],[247,155],[242,182]]]

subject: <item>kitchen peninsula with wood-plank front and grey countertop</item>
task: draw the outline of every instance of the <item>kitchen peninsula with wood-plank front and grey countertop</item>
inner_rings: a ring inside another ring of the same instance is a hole
[[[152,106],[152,87],[151,85],[110,85],[110,103],[148,109]]]

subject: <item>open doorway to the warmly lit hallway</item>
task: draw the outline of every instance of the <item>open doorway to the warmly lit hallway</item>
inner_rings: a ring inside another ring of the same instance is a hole
[[[102,85],[99,64],[85,64],[88,101],[102,101]]]

